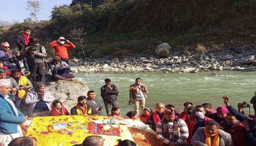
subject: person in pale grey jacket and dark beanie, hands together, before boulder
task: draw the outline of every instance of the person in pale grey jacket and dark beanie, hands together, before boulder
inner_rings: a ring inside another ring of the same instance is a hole
[[[43,82],[36,82],[35,88],[31,89],[25,98],[28,105],[28,113],[31,117],[49,116],[50,104],[54,100],[50,92],[45,90]]]

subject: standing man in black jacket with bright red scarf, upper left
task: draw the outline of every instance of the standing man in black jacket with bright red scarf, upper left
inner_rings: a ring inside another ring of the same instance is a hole
[[[22,34],[19,34],[15,37],[15,43],[18,46],[19,50],[21,50],[22,47],[24,48],[27,47],[27,45],[29,44],[30,34],[31,34],[31,28],[25,27]],[[25,73],[30,73],[29,65],[27,64],[26,57],[23,57],[22,59],[23,59],[24,67],[26,69]]]

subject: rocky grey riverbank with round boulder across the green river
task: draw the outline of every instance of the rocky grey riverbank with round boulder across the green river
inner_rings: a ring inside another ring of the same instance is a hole
[[[123,59],[111,57],[72,59],[71,70],[86,73],[256,71],[256,44],[250,47],[239,46],[220,49],[221,52],[212,52],[216,48],[208,48],[206,52],[202,53],[198,53],[196,47],[173,51],[167,43],[161,45],[159,45],[162,49],[160,51],[156,49],[154,53],[146,55],[129,54]]]

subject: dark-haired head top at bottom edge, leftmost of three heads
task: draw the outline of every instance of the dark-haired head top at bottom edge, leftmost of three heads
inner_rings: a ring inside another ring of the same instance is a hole
[[[34,137],[19,137],[12,140],[8,146],[37,146],[37,139]]]

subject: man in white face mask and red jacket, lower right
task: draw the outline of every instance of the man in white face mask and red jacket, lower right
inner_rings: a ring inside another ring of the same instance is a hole
[[[189,144],[192,136],[195,134],[197,128],[206,126],[208,121],[213,121],[211,118],[204,116],[206,114],[205,108],[203,105],[196,106],[196,114],[192,116],[191,121],[185,120],[188,125],[189,136],[187,138],[187,143]]]

